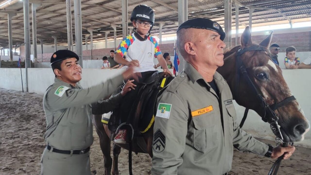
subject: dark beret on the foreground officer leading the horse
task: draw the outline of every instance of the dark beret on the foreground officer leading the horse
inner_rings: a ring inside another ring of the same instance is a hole
[[[195,28],[195,29],[207,29],[211,31],[216,31],[220,35],[220,40],[224,40],[226,37],[226,33],[222,30],[221,26],[210,19],[207,18],[193,18],[188,21],[182,23],[177,31],[185,28]]]

